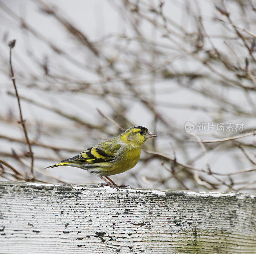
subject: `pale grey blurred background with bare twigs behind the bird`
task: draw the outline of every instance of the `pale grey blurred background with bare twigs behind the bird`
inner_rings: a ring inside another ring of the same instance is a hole
[[[198,143],[188,141],[195,138],[185,134],[184,125],[244,123],[243,131],[238,133],[194,131],[202,139],[235,136],[255,129],[255,1],[224,1],[232,22],[250,31],[251,34],[240,29],[243,38],[228,17],[214,7],[222,6],[221,1],[165,1],[162,6],[160,1],[0,3],[0,158],[4,161],[29,172],[24,165],[24,160],[30,160],[24,157],[27,145],[18,142],[24,134],[17,124],[17,100],[10,94],[14,89],[7,44],[16,39],[13,67],[19,94],[27,98],[21,106],[29,138],[60,148],[54,151],[33,146],[36,168],[56,164],[119,135],[118,128],[99,115],[99,108],[124,128],[141,125],[156,133],[158,137],[148,140],[144,149],[172,159],[174,149],[178,162],[205,170],[209,163],[213,172],[222,174],[252,169],[232,179],[199,171],[201,180],[209,181],[213,188],[200,182],[193,169],[177,167],[174,177],[169,161],[142,151],[141,161],[133,169],[112,177],[117,183],[150,188],[254,191],[254,136],[237,140],[245,153],[237,147],[238,143],[228,141],[206,145],[206,156]],[[54,13],[49,13],[51,8]],[[67,30],[70,24],[86,36],[98,56],[80,32]],[[251,55],[245,44],[252,48]],[[247,68],[245,58],[249,62]],[[130,85],[125,84],[126,80]],[[61,116],[60,111],[66,116]],[[84,123],[68,119],[67,115]],[[12,149],[23,163],[13,158]],[[8,172],[8,168],[5,170]],[[73,167],[45,172],[68,183],[101,181]],[[37,170],[35,175],[44,181],[55,181]],[[1,180],[15,180],[8,173],[2,176]],[[232,181],[236,184],[230,189]]]

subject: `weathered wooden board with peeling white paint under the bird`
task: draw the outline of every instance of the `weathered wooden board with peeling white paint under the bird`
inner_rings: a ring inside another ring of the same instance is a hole
[[[256,198],[0,182],[1,253],[256,253]]]

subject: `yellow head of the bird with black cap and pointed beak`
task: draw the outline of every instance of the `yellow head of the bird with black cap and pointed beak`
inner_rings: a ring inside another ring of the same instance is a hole
[[[156,137],[156,135],[150,131],[148,131],[147,128],[142,126],[133,126],[126,131],[124,131],[123,134],[121,134],[121,138],[126,142],[131,142],[134,145],[142,146],[143,143],[148,138]]]

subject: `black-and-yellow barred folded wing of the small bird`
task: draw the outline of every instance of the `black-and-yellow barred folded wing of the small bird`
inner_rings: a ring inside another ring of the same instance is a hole
[[[104,144],[101,143],[97,146],[93,146],[83,151],[82,153],[63,160],[61,162],[71,163],[97,163],[97,162],[109,162],[115,160],[116,152],[120,149],[120,144]]]

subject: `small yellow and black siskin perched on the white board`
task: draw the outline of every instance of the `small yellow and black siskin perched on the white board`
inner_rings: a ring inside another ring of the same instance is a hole
[[[116,184],[108,176],[123,173],[133,168],[140,159],[141,146],[148,138],[153,137],[156,135],[148,131],[147,128],[134,126],[116,138],[101,142],[73,158],[63,160],[47,168],[59,166],[82,168],[104,180],[105,183],[100,183],[101,185],[108,185],[119,190],[118,187],[127,186]]]

